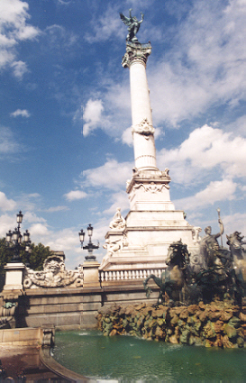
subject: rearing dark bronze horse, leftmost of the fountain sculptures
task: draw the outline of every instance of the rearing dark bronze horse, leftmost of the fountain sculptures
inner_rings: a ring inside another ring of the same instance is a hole
[[[149,298],[151,288],[148,287],[148,281],[153,281],[160,288],[158,304],[165,302],[165,293],[169,296],[170,301],[179,301],[182,288],[187,280],[187,266],[189,265],[189,252],[187,245],[182,241],[173,242],[169,245],[168,257],[166,260],[167,269],[162,272],[160,278],[151,274],[150,277],[143,281],[146,296]]]

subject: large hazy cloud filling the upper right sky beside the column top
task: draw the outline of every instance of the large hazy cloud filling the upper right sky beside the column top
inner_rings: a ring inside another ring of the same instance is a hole
[[[178,126],[216,103],[233,107],[245,100],[245,10],[240,0],[194,2],[177,24],[175,44],[159,63],[148,64],[157,123]]]

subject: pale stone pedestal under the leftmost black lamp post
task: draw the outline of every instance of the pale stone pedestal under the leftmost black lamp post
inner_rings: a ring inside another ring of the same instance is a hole
[[[25,265],[22,262],[6,264],[4,290],[22,290],[23,289],[23,270],[24,269],[25,269]]]

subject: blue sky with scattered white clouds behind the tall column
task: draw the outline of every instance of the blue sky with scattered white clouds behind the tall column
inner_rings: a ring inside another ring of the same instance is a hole
[[[187,221],[246,235],[246,0],[1,0],[0,236],[23,230],[84,260],[78,231],[104,244],[132,176],[126,27],[144,22],[159,169]],[[203,232],[204,233],[204,232]],[[97,251],[101,260],[104,249]]]

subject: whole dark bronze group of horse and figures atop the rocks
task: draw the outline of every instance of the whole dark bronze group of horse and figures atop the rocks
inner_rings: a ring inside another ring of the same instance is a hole
[[[150,275],[143,282],[146,295],[150,296],[148,281],[152,278],[160,287],[159,302],[165,302],[169,296],[169,302],[174,304],[184,299],[189,304],[203,300],[209,303],[214,299],[231,299],[241,305],[246,288],[246,251],[243,249],[243,236],[234,232],[226,235],[230,250],[220,246],[218,239],[223,235],[223,222],[218,209],[220,233],[212,234],[211,226],[205,228],[205,236],[199,239],[199,254],[201,268],[197,271],[189,263],[187,245],[182,241],[174,242],[169,246],[166,260],[167,269],[161,278]],[[179,254],[179,257],[178,257]],[[180,263],[180,260],[182,262]],[[183,295],[183,296],[182,296]],[[194,299],[196,301],[194,301]]]

